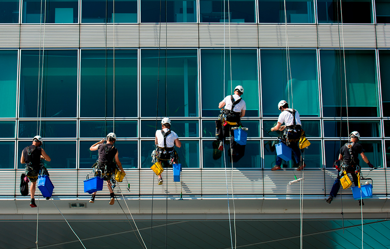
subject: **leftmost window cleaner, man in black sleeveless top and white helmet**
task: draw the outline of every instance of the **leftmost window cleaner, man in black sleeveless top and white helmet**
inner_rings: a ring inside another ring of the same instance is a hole
[[[42,146],[42,138],[38,135],[33,138],[33,144],[27,146],[23,149],[20,157],[20,163],[26,164],[25,174],[27,178],[31,181],[30,186],[30,207],[35,208],[37,205],[35,204],[35,190],[37,186],[37,180],[40,170],[44,170],[47,173],[46,168],[41,163],[41,159],[46,161],[51,161],[50,157],[46,154],[46,152],[41,148]],[[46,197],[49,199],[49,197]]]

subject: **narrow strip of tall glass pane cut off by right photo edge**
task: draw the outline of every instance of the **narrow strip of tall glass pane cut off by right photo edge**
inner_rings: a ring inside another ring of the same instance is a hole
[[[389,14],[390,15],[390,14]],[[390,51],[379,50],[379,71],[381,77],[382,90],[382,110],[383,116],[390,116]]]

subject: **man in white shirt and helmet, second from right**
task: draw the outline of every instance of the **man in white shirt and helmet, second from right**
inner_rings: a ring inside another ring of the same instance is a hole
[[[289,146],[294,153],[295,161],[298,164],[298,168],[296,170],[302,170],[306,167],[306,163],[301,162],[301,150],[299,149],[298,144],[303,131],[299,112],[289,108],[289,104],[285,100],[281,100],[277,107],[281,113],[277,119],[277,124],[271,128],[271,131],[285,130],[283,139],[286,140],[287,146]],[[282,125],[283,123],[285,125]],[[272,170],[281,169],[281,165],[282,159],[276,156],[275,166],[272,167]]]

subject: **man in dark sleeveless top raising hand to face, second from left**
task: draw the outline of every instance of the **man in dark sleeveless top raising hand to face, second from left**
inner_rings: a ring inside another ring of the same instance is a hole
[[[103,175],[103,179],[107,181],[107,187],[110,191],[111,197],[109,203],[110,205],[114,205],[115,195],[111,183],[111,178],[115,177],[115,170],[117,169],[117,166],[120,171],[124,172],[124,170],[122,168],[122,163],[120,163],[119,161],[118,150],[115,147],[115,141],[117,141],[117,136],[115,135],[115,133],[111,132],[107,135],[106,139],[106,143],[104,143],[105,139],[102,139],[101,141],[92,145],[89,149],[91,151],[98,150],[99,152],[99,158],[97,162],[98,164],[96,165],[96,174],[98,174],[98,170],[100,170]],[[92,194],[92,197],[89,200],[90,203],[95,202],[95,196],[96,192]]]

